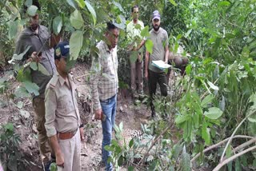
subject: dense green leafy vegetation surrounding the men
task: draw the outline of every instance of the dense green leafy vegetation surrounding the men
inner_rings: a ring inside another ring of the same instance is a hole
[[[113,151],[110,160],[116,168],[126,165],[129,170],[255,169],[255,0],[39,2],[43,6],[40,14],[43,24],[54,34],[60,33],[70,40],[74,61],[78,58],[90,61],[89,54],[96,53],[96,42],[105,39],[107,21],[121,28],[118,75],[122,87],[130,85],[124,29],[134,4],[140,6],[140,18],[148,29],[152,11],[159,10],[162,27],[170,35],[170,50],[175,52],[178,45],[182,45],[191,55],[186,76],[174,78],[171,96],[156,97],[154,101],[157,117],[142,126],[143,138],[148,144],[133,139],[122,147],[117,140],[107,147]],[[30,6],[31,1],[26,0],[26,4]],[[20,0],[2,1],[0,9],[0,66],[3,67],[13,55],[14,41],[18,30],[26,24],[26,14],[22,13]],[[35,12],[33,7],[29,12]],[[143,33],[148,34],[148,30]],[[33,64],[30,68],[39,70]],[[16,97],[38,93],[38,87],[26,77],[29,70],[20,66],[14,66],[14,70],[18,72],[18,81],[23,82],[16,90]],[[8,84],[7,79],[1,78],[2,93]],[[172,129],[177,129],[177,133]],[[122,132],[121,125],[118,131]],[[178,137],[178,141],[174,141],[174,137]],[[142,148],[144,153],[138,153]],[[154,149],[154,153],[150,153],[150,149]]]

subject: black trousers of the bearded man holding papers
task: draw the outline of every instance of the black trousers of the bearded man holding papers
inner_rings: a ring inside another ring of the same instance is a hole
[[[167,96],[167,79],[166,74],[162,73],[155,73],[152,70],[149,70],[149,91],[150,91],[150,107],[152,112],[154,112],[154,105],[153,105],[153,96],[157,89],[157,84],[160,85],[161,95],[166,97]]]

